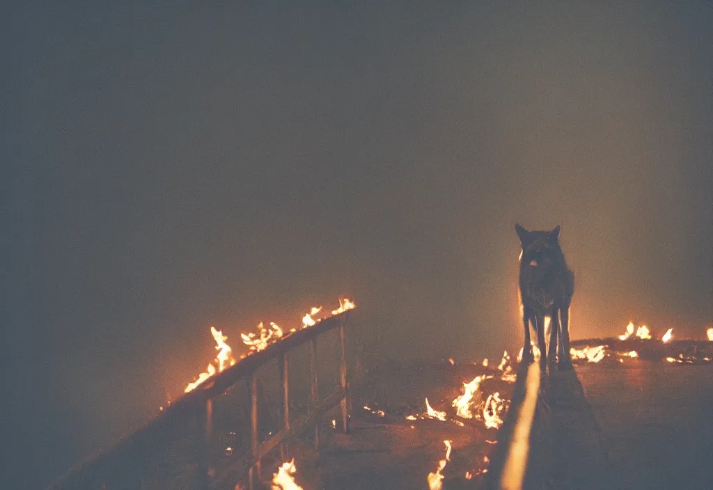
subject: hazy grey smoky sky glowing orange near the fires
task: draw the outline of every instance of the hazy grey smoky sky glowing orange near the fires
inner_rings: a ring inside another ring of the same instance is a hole
[[[210,325],[347,295],[379,358],[519,346],[515,221],[562,224],[573,338],[713,324],[709,2],[116,3],[1,29],[16,487],[177,396]]]

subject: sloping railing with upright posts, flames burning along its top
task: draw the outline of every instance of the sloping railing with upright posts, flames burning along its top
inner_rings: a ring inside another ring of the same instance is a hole
[[[349,311],[324,318],[315,325],[302,328],[286,335],[259,352],[241,359],[230,368],[213,375],[180,397],[144,427],[120,440],[116,445],[96,457],[73,466],[54,481],[48,490],[73,490],[98,488],[112,490],[113,475],[123,473],[127,465],[135,466],[142,459],[150,457],[156,448],[165,442],[171,427],[185,422],[198,422],[202,436],[198,447],[198,488],[209,489],[220,481],[211,469],[210,443],[213,439],[213,400],[232,385],[247,380],[250,397],[250,468],[248,486],[254,490],[260,481],[261,460],[278,446],[283,450],[288,439],[303,434],[309,427],[314,427],[314,447],[319,451],[319,421],[337,404],[341,403],[341,425],[344,432],[349,432],[349,383],[347,382],[347,361],[344,353],[344,327]],[[339,329],[339,388],[324,399],[319,400],[317,390],[317,338],[335,328]],[[289,413],[289,351],[309,342],[309,408],[307,412],[291,419]],[[258,377],[257,370],[262,365],[278,360],[282,377],[282,403],[284,426],[269,439],[260,442],[258,425]]]

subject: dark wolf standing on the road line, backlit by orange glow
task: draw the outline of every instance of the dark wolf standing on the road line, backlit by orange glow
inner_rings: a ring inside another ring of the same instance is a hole
[[[572,369],[569,312],[575,291],[575,275],[568,268],[565,254],[560,247],[560,225],[555,226],[552,231],[528,231],[518,223],[515,224],[515,231],[522,246],[520,299],[523,302],[525,324],[523,358],[531,359],[532,323],[540,349],[540,370],[545,371],[548,363],[554,366],[555,358],[558,358],[560,370]],[[549,353],[545,352],[545,316],[551,319]]]

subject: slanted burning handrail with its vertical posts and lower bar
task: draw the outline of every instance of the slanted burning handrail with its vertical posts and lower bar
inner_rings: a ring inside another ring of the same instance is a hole
[[[289,411],[285,411],[285,429],[272,437],[269,441],[265,441],[262,447],[257,444],[257,392],[255,391],[255,383],[257,381],[256,372],[260,366],[269,363],[275,358],[280,358],[282,360],[284,369],[284,397],[285,397],[285,407],[289,404],[287,402],[288,393],[288,382],[287,382],[287,353],[289,350],[298,347],[304,343],[310,342],[310,358],[314,359],[314,346],[316,345],[316,339],[319,335],[327,333],[329,330],[334,328],[339,328],[339,338],[341,343],[341,355],[342,355],[342,366],[341,366],[341,381],[342,387],[337,392],[329,395],[327,399],[324,400],[322,405],[316,400],[317,394],[317,373],[312,366],[312,372],[310,373],[310,387],[312,388],[312,404],[311,410],[308,412],[307,419],[312,419],[322,414],[326,405],[331,403],[330,407],[336,405],[334,401],[335,398],[337,402],[342,401],[342,422],[344,423],[344,431],[347,431],[347,397],[349,396],[349,387],[347,384],[346,376],[346,363],[344,360],[344,324],[349,316],[349,311],[344,311],[334,316],[318,320],[312,326],[296,330],[294,332],[289,332],[283,338],[280,338],[275,343],[267,345],[263,350],[255,353],[250,353],[245,358],[240,359],[235,365],[226,368],[222,372],[212,375],[212,377],[202,382],[200,385],[195,387],[194,390],[186,393],[178,400],[169,405],[165,410],[163,410],[158,417],[151,420],[143,427],[135,430],[128,436],[120,439],[113,447],[100,452],[93,457],[89,457],[85,461],[76,464],[66,471],[64,474],[53,481],[47,490],[68,490],[74,488],[81,488],[86,485],[86,479],[96,479],[97,474],[110,474],[112,471],[118,469],[118,462],[126,457],[131,459],[141,458],[150,454],[156,445],[161,441],[160,434],[163,433],[163,429],[166,427],[171,427],[174,424],[183,422],[191,417],[200,417],[205,424],[205,436],[206,439],[210,439],[212,432],[212,399],[217,397],[222,392],[225,392],[228,388],[234,385],[236,382],[248,378],[250,380],[250,391],[252,398],[252,453],[254,458],[253,467],[257,468],[257,476],[260,473],[260,459],[265,455],[267,451],[261,451],[261,449],[267,448],[267,446],[275,447],[277,444],[282,442],[283,439],[287,437],[294,437],[299,435],[297,431],[297,426],[304,425],[303,429],[307,427],[304,421],[300,423],[294,423],[294,428],[290,427],[289,424]],[[339,395],[339,396],[337,396]],[[327,403],[329,402],[329,403]],[[319,429],[316,429],[315,435],[317,439],[315,441],[316,445],[319,445]],[[277,436],[279,435],[279,440]],[[257,444],[257,445],[256,445]],[[207,457],[207,455],[204,455]],[[205,470],[207,476],[207,462],[201,462],[199,464],[201,471]],[[250,471],[250,488],[253,488],[253,468]],[[207,481],[206,481],[207,483]]]

